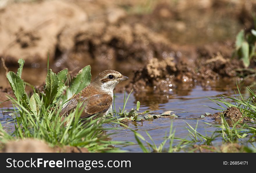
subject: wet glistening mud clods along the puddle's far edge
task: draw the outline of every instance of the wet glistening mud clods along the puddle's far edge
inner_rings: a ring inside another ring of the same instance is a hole
[[[231,54],[231,51],[229,53]],[[165,93],[173,91],[173,88],[189,91],[196,85],[205,88],[217,87],[221,80],[232,81],[238,73],[234,69],[239,68],[243,68],[241,61],[224,58],[220,52],[209,59],[152,58],[143,68],[134,72],[134,78],[126,88],[128,91],[134,89]]]

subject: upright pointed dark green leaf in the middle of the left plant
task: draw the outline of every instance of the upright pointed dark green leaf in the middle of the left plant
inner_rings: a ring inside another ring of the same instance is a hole
[[[56,73],[52,72],[51,69],[49,69],[45,79],[45,105],[49,105],[53,102],[58,92],[58,84],[58,76]]]

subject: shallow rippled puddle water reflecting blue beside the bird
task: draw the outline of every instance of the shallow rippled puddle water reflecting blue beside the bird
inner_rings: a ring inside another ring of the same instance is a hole
[[[186,94],[184,94],[186,93]],[[220,94],[225,94],[231,96],[234,92],[230,91],[216,91],[216,90],[203,90],[200,86],[197,86],[187,92],[187,90],[176,90],[175,94],[169,92],[168,94],[149,94],[149,97],[139,97],[141,102],[141,107],[139,112],[145,110],[151,110],[151,114],[161,114],[165,111],[172,110],[173,113],[178,116],[176,119],[171,118],[159,118],[154,120],[139,121],[139,122],[130,122],[128,126],[133,130],[136,130],[141,135],[145,137],[147,141],[150,139],[147,137],[146,131],[153,138],[154,142],[158,146],[165,138],[166,134],[169,134],[171,122],[173,122],[173,130],[175,130],[175,137],[186,138],[189,134],[186,127],[186,122],[189,123],[192,127],[196,126],[198,121],[197,131],[205,135],[211,136],[211,132],[215,131],[216,128],[207,125],[208,123],[215,123],[214,121],[207,118],[200,118],[201,114],[209,112],[213,114],[216,112],[209,107],[219,108],[216,103],[210,101],[206,96],[213,98],[213,96],[219,97]],[[136,107],[136,102],[139,93],[129,97],[129,101],[126,105],[126,110]],[[115,106],[118,110],[118,107],[123,106],[123,93],[116,94]],[[161,99],[160,99],[161,98]],[[8,106],[1,107],[1,109],[8,109]],[[12,123],[12,116],[8,111],[0,110],[0,122],[7,132],[12,132],[14,130],[14,125]],[[113,130],[108,130],[107,133],[110,134],[110,139],[113,141],[130,141],[136,144],[128,146],[118,146],[122,150],[128,150],[129,152],[142,152],[141,148],[136,142],[134,133],[120,125],[117,124],[104,124],[106,128],[113,128]],[[189,138],[188,138],[189,139]],[[175,140],[174,145],[179,141]],[[152,142],[150,142],[152,143]],[[213,145],[221,145],[221,139],[216,139],[213,141]],[[166,143],[166,148],[168,148],[168,143]]]

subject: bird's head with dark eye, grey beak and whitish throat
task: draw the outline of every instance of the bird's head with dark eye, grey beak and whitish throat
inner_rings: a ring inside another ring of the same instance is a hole
[[[94,80],[100,88],[106,92],[113,92],[113,89],[120,81],[126,81],[128,77],[115,70],[104,70]]]

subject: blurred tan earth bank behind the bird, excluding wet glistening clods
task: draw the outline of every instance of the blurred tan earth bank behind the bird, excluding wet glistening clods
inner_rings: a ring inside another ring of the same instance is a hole
[[[43,84],[48,54],[49,68],[71,76],[90,64],[93,78],[114,69],[133,79],[150,59],[168,57],[195,69],[218,52],[230,58],[255,10],[254,0],[0,0],[0,86],[20,58],[22,78]]]

